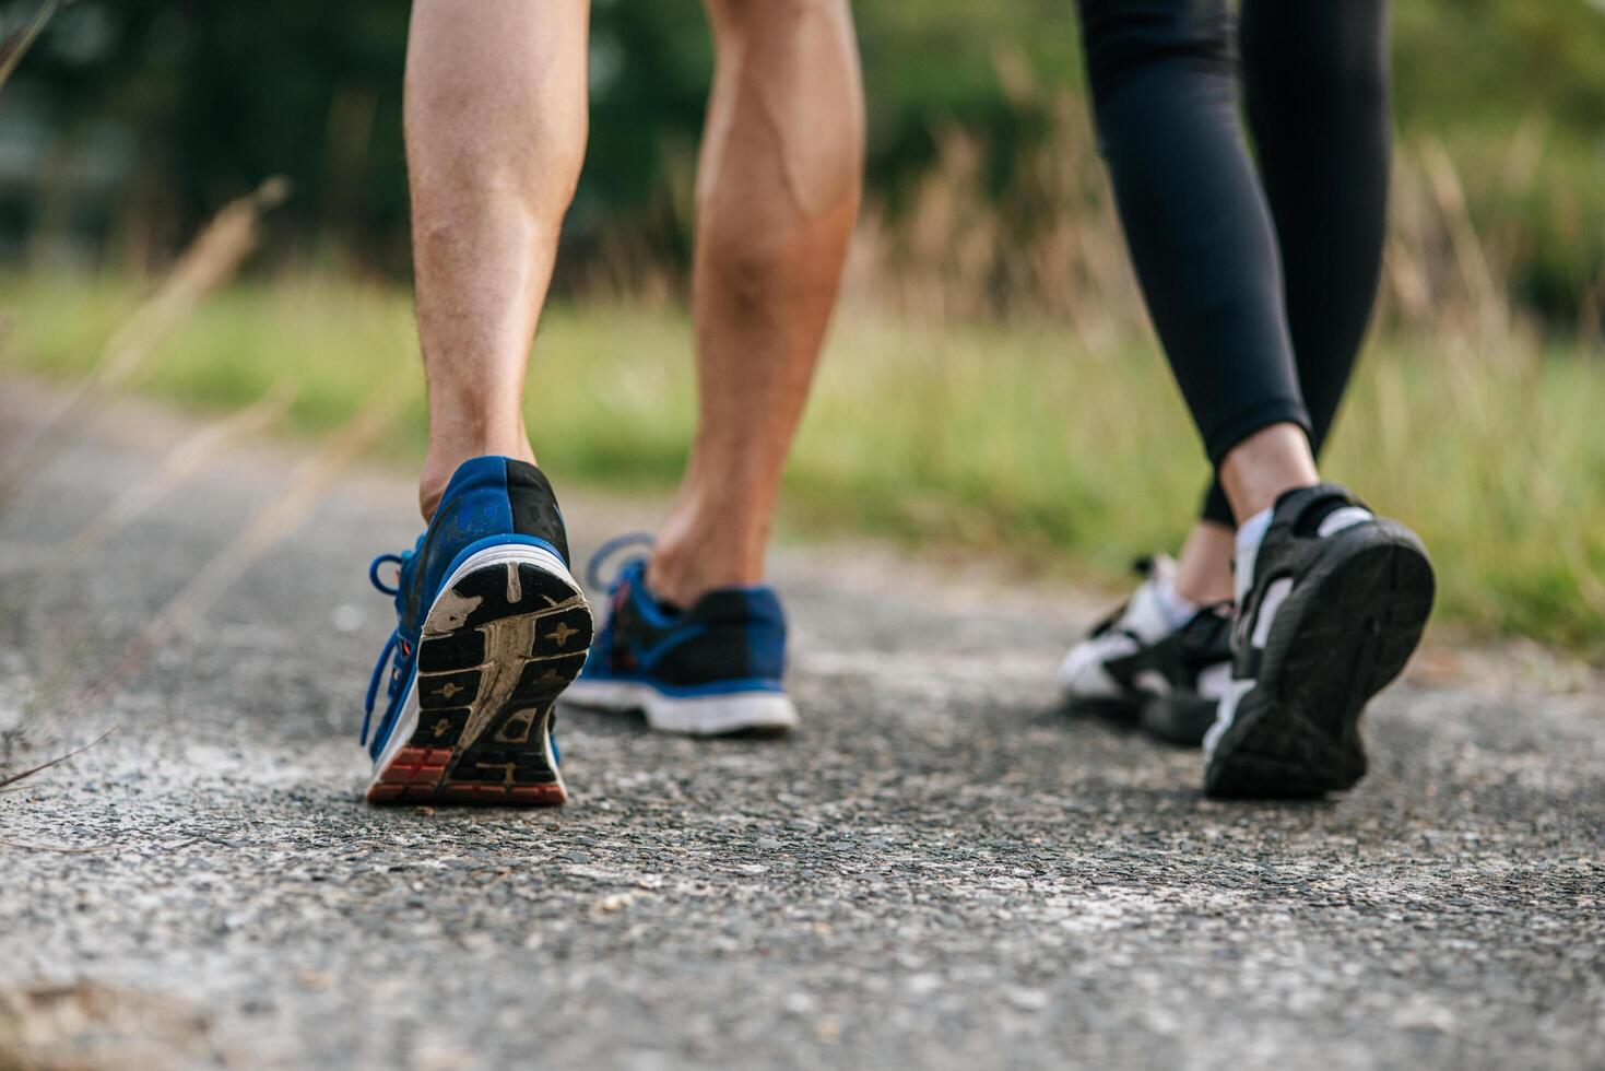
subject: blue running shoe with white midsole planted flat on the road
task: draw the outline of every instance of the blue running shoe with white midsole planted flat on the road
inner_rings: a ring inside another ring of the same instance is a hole
[[[615,551],[648,536],[623,536],[591,559],[589,583]],[[584,671],[563,702],[636,711],[661,732],[719,735],[783,732],[798,711],[780,678],[786,618],[770,588],[719,588],[689,610],[647,591],[647,559],[620,570],[608,591],[608,620]]]

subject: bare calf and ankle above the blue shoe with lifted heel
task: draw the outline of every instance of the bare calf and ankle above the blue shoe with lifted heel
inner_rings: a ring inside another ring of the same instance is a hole
[[[587,19],[586,0],[412,5],[406,148],[429,381],[425,520],[462,461],[534,461],[523,381],[584,159]]]

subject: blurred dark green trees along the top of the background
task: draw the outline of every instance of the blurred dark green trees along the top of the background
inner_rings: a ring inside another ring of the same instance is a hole
[[[35,3],[0,3],[5,29]],[[862,0],[855,13],[870,196],[888,218],[953,127],[982,146],[984,186],[1002,196],[1045,136],[1053,95],[1080,92],[1072,0]],[[0,242],[14,260],[43,230],[72,234],[93,262],[159,260],[282,173],[295,194],[270,260],[404,275],[406,31],[400,0],[77,0],[0,96]],[[1045,92],[1010,93],[1003,53]],[[684,265],[711,63],[697,0],[595,0],[567,265]],[[1395,71],[1406,138],[1497,140],[1538,116],[1568,165],[1591,169],[1578,181],[1595,189],[1565,210],[1605,222],[1605,0],[1396,0]],[[1523,210],[1542,228],[1555,209]]]

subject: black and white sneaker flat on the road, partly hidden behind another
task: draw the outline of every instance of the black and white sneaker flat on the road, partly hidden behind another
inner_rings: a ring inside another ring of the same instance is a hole
[[[1231,681],[1231,607],[1204,607],[1176,628],[1160,596],[1175,562],[1160,554],[1138,570],[1144,580],[1132,599],[1071,647],[1059,686],[1075,713],[1197,747]]]

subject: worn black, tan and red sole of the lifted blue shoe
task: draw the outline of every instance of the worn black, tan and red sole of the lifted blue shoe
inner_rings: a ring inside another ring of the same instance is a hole
[[[555,806],[568,798],[552,705],[586,662],[591,609],[551,551],[475,551],[424,618],[417,670],[369,803]]]

